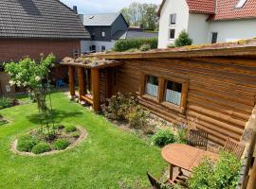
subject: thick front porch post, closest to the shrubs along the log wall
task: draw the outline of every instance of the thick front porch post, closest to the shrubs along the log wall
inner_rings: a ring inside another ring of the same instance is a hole
[[[99,69],[91,69],[91,82],[93,94],[93,109],[95,112],[99,112],[101,110],[101,89]]]

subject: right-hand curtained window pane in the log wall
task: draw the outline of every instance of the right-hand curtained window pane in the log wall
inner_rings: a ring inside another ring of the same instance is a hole
[[[182,84],[171,80],[166,81],[164,101],[180,106]]]

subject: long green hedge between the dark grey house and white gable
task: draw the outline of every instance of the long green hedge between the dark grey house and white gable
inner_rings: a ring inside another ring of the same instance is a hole
[[[137,48],[139,49],[143,44],[149,44],[151,49],[157,48],[158,39],[131,39],[131,40],[119,40],[115,43],[114,50],[118,52],[127,51],[129,49]]]

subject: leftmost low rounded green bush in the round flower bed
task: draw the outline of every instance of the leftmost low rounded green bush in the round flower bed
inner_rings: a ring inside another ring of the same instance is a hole
[[[17,149],[19,151],[30,152],[37,144],[38,141],[32,138],[30,135],[23,135],[18,139]]]

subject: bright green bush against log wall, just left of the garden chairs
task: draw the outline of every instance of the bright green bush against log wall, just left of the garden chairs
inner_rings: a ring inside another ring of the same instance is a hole
[[[156,146],[166,146],[175,142],[174,133],[170,129],[157,131],[152,140]]]

